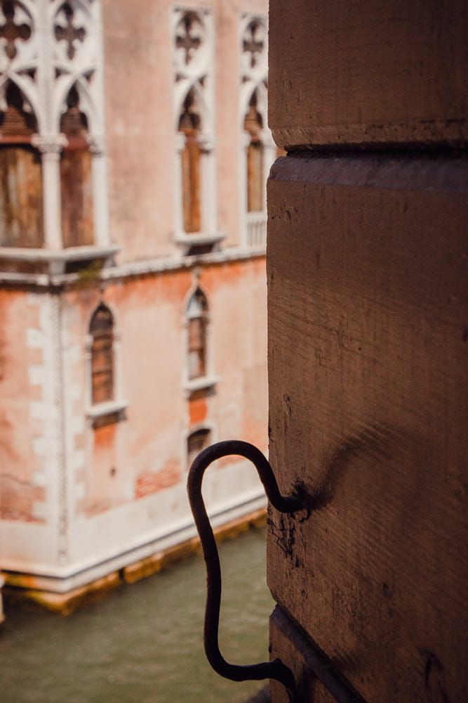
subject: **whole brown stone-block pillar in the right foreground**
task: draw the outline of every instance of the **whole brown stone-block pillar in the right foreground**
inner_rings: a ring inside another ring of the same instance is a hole
[[[270,0],[269,458],[310,502],[270,508],[267,578],[302,703],[468,700],[467,36],[464,0]]]

